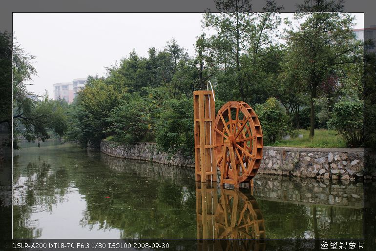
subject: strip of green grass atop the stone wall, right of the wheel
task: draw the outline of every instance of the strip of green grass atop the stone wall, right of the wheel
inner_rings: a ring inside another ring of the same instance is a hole
[[[302,134],[303,138],[298,135]],[[346,142],[341,135],[333,130],[315,129],[313,139],[309,137],[310,131],[299,129],[297,130],[296,137],[289,140],[280,140],[268,146],[281,146],[281,147],[309,147],[309,148],[344,148]]]

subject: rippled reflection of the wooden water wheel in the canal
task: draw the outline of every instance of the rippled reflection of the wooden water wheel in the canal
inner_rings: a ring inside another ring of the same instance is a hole
[[[256,199],[238,189],[221,189],[216,215],[216,237],[265,239],[265,224]]]

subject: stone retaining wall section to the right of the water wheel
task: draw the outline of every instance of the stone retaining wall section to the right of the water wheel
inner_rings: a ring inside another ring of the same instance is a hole
[[[363,179],[362,148],[264,147],[262,174],[318,179]]]

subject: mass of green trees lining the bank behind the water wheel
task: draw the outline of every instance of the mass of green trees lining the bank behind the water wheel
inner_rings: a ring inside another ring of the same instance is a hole
[[[89,77],[85,90],[66,108],[67,138],[83,145],[106,137],[156,141],[169,154],[190,155],[192,92],[206,89],[208,80],[217,111],[230,100],[261,104],[256,109],[270,143],[292,135],[291,121],[295,128],[312,127],[311,110],[314,127],[322,128],[339,98],[363,98],[360,42],[354,39],[350,15],[296,14],[300,26],[287,21],[287,43],[279,44],[274,38],[280,36],[280,9],[274,1],[267,1],[264,13],[252,13],[248,0],[216,5],[223,11],[205,13],[202,19],[203,28],[215,34],[197,37],[195,57],[171,39],[161,51],[150,48],[145,58],[133,50],[107,68],[105,77]],[[310,102],[308,110],[301,110]]]

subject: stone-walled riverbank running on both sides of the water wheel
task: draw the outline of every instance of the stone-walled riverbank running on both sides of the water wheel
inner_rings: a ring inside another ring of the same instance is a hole
[[[124,145],[102,140],[100,148],[104,154],[114,157],[194,168],[193,157],[187,158],[181,154],[169,156],[158,150],[155,143]],[[263,161],[258,171],[259,174],[313,177],[324,180],[360,180],[363,179],[363,172],[363,148],[292,147],[264,147]],[[366,175],[366,178],[373,177],[376,177],[376,173],[369,172]]]

